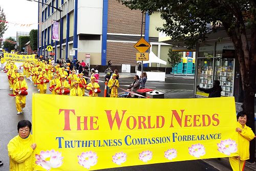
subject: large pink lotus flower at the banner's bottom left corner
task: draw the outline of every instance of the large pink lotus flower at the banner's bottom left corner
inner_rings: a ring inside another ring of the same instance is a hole
[[[61,153],[57,151],[55,152],[54,149],[46,152],[41,151],[39,155],[35,155],[35,158],[35,163],[47,170],[50,170],[51,168],[60,167],[63,163],[63,157],[61,157]]]

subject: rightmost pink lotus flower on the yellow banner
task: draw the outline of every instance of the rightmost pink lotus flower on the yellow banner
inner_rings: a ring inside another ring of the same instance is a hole
[[[217,145],[219,147],[218,151],[228,156],[231,153],[236,153],[238,151],[238,144],[231,139],[221,141],[221,143],[217,143]]]

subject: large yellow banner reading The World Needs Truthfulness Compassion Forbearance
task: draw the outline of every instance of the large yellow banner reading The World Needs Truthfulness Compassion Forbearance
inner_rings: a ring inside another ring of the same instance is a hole
[[[236,156],[233,97],[133,99],[33,94],[36,170]]]

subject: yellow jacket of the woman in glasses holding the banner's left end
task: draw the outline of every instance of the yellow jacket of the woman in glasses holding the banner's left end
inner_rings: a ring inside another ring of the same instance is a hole
[[[35,153],[31,145],[32,135],[23,139],[15,136],[7,145],[10,158],[10,171],[32,171],[35,166]]]

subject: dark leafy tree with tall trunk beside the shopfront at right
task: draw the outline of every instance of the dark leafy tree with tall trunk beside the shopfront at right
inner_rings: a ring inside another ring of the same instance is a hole
[[[117,0],[130,9],[161,13],[163,31],[189,47],[204,41],[210,32],[224,29],[239,60],[247,123],[254,131],[256,75],[256,2],[254,0]],[[221,26],[221,27],[220,27]],[[249,36],[250,35],[250,36]],[[255,140],[250,142],[250,160],[255,161]]]

